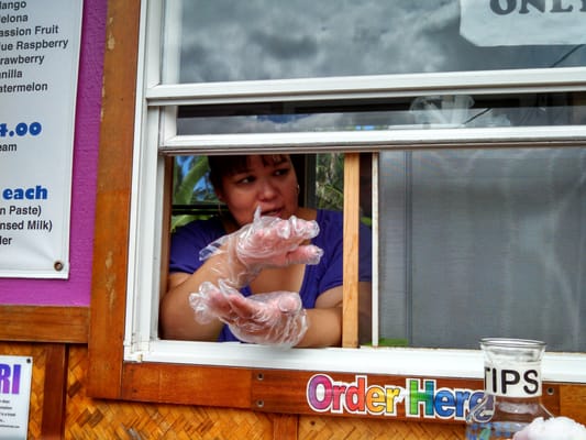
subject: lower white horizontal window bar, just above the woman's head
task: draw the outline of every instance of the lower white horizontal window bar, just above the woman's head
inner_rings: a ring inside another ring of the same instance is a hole
[[[586,125],[429,129],[353,132],[254,133],[176,135],[161,143],[162,154],[209,153],[316,153],[320,151],[372,151],[418,148],[510,148],[582,146]]]

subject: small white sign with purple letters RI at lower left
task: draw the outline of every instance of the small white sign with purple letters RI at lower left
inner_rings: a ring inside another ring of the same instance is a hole
[[[0,356],[0,440],[26,439],[32,377],[32,358]]]

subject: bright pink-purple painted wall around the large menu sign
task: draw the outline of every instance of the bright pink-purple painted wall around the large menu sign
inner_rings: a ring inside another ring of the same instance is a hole
[[[85,0],[74,141],[69,279],[0,278],[0,305],[89,306],[107,0]]]

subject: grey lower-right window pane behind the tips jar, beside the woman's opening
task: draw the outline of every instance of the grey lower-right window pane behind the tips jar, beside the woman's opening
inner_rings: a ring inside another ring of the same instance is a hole
[[[586,148],[380,154],[387,340],[586,351]]]

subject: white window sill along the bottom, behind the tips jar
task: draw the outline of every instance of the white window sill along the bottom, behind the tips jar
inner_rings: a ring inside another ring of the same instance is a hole
[[[151,343],[148,351],[136,351],[126,360],[262,370],[484,378],[484,358],[480,350],[369,346],[281,350],[239,342],[158,340]],[[586,356],[582,353],[545,353],[542,378],[549,382],[584,384]]]

